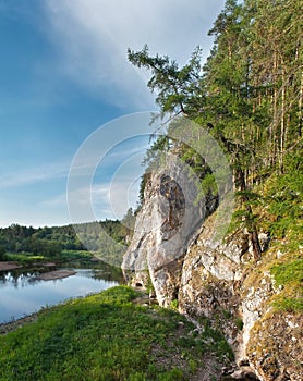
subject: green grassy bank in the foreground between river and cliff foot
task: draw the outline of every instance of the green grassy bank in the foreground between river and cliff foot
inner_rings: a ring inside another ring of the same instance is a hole
[[[0,380],[217,380],[232,354],[213,331],[179,314],[134,303],[118,286],[70,300],[0,336]],[[213,376],[211,376],[213,374]]]

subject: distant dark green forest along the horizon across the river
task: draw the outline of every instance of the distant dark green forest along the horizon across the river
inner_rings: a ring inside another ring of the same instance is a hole
[[[65,226],[22,226],[12,224],[0,229],[0,259],[5,254],[32,254],[58,257],[62,250],[89,250],[98,257],[120,257],[132,235],[134,213],[124,218]]]

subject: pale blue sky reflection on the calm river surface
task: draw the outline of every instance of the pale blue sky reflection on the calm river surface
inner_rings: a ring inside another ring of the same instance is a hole
[[[117,282],[94,279],[95,270],[76,269],[73,276],[53,281],[31,282],[28,276],[17,279],[7,276],[0,280],[0,323],[33,314],[45,306],[63,302],[71,297],[97,293]]]

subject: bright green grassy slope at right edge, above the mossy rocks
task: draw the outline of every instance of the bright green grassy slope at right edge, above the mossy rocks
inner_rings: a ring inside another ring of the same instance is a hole
[[[303,173],[290,169],[284,175],[271,175],[262,193],[259,225],[271,236],[263,266],[281,288],[272,304],[276,310],[302,314]]]

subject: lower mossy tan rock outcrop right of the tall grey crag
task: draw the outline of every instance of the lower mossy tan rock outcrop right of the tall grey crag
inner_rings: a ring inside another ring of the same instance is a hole
[[[184,257],[180,311],[197,320],[206,316],[225,334],[238,365],[249,364],[260,380],[302,380],[302,316],[275,312],[279,288],[267,267],[252,260],[247,235],[237,232],[216,247],[207,244],[213,219]]]

